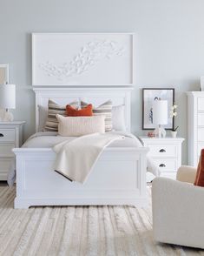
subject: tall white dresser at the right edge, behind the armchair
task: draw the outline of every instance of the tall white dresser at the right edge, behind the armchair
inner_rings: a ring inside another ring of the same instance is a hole
[[[197,166],[204,148],[204,91],[188,91],[188,165]]]

